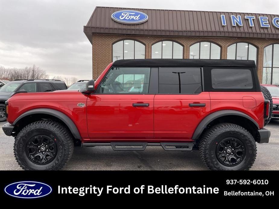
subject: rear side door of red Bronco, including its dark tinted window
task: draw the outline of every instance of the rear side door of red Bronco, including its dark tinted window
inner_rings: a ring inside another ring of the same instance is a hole
[[[154,97],[154,139],[190,140],[210,113],[209,92],[203,92],[199,67],[160,67]]]

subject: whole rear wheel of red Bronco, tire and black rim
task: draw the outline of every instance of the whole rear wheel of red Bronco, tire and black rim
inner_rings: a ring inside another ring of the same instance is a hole
[[[251,133],[232,123],[219,123],[206,130],[199,151],[210,170],[249,170],[257,155]]]

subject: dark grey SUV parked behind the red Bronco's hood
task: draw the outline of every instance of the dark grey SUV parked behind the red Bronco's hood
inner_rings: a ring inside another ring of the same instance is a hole
[[[14,80],[0,88],[0,122],[6,120],[5,101],[8,100],[17,91],[25,90],[27,92],[53,92],[55,90],[64,90],[67,86],[64,81],[50,79],[29,79]]]

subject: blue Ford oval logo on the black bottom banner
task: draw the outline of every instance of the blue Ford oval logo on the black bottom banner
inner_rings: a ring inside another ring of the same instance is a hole
[[[17,198],[39,198],[52,192],[52,188],[44,183],[35,181],[21,181],[9,184],[5,192]]]

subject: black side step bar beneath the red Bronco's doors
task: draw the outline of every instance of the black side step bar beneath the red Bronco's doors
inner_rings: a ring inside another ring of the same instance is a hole
[[[111,142],[111,143],[91,143],[84,142],[83,147],[95,146],[111,146],[113,150],[117,151],[143,151],[147,146],[162,146],[166,151],[186,151],[192,150],[192,142],[161,142],[161,143],[147,143],[147,142]]]

